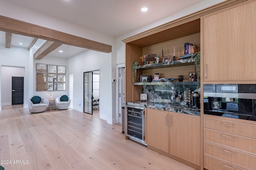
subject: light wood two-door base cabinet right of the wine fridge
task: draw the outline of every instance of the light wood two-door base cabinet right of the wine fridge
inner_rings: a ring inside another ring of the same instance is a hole
[[[146,109],[147,144],[200,165],[200,117]]]

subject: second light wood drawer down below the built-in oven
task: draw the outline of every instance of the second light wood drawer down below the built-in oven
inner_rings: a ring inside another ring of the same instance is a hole
[[[256,139],[204,129],[204,141],[256,154]]]

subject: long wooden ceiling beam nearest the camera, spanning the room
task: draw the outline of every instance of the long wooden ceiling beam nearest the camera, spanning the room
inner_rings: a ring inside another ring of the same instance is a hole
[[[61,44],[82,47],[104,53],[112,52],[111,45],[77,37],[60,31],[55,31],[53,29],[48,29],[31,23],[14,20],[4,16],[0,16],[0,31],[45,39],[48,41],[54,41]]]

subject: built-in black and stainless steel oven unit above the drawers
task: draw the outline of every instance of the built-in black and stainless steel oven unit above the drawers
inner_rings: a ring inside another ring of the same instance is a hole
[[[256,121],[256,84],[204,85],[204,114]]]

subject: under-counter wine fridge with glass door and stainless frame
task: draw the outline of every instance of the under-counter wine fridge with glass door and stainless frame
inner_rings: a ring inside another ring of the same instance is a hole
[[[145,108],[126,105],[126,136],[143,145],[145,143],[144,129]]]

